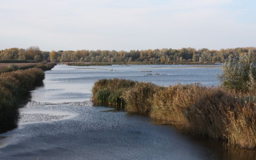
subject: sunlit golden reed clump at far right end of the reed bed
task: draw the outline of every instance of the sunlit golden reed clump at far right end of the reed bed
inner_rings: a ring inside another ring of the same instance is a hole
[[[227,140],[243,148],[256,149],[256,97],[240,95],[233,108],[225,113]]]

